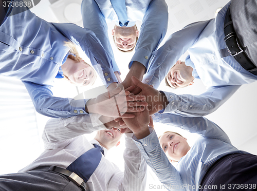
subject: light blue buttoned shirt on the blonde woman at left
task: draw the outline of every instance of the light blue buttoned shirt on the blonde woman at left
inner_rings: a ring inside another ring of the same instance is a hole
[[[112,68],[96,35],[75,24],[48,23],[27,10],[0,26],[0,74],[22,80],[36,111],[48,117],[86,114],[86,100],[53,97],[50,89],[69,51],[68,40],[83,49],[99,73]]]

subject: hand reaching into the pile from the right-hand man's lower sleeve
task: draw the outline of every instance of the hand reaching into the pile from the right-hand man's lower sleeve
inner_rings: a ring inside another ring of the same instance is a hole
[[[150,115],[166,108],[169,104],[166,96],[160,93],[157,89],[154,89],[152,86],[142,83],[135,77],[132,77],[132,82],[142,90],[139,95],[145,96],[146,102],[148,103],[148,109],[150,110]]]

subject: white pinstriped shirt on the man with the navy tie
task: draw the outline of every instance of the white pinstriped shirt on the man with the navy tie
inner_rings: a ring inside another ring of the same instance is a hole
[[[95,121],[90,121],[88,115],[66,119],[50,119],[42,136],[45,151],[38,159],[20,170],[20,172],[26,172],[38,166],[56,165],[66,168],[84,152],[94,148],[94,145],[89,143],[83,136],[84,133],[106,129],[98,120],[98,117],[95,118]],[[118,166],[102,156],[98,167],[87,181],[90,191],[144,190],[146,163],[141,157],[139,149],[132,141],[132,135],[133,133],[125,135],[124,173],[119,170]],[[98,143],[97,141],[94,142]],[[104,149],[104,151],[106,150]]]

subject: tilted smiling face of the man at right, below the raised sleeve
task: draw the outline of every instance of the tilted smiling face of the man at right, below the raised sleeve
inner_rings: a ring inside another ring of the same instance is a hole
[[[193,68],[187,66],[185,62],[177,61],[166,75],[166,80],[172,88],[182,88],[192,85],[194,77]]]

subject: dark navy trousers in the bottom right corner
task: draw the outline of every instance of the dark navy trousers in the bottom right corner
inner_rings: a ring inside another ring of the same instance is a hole
[[[200,190],[257,190],[257,156],[232,154],[218,160],[207,171]]]

